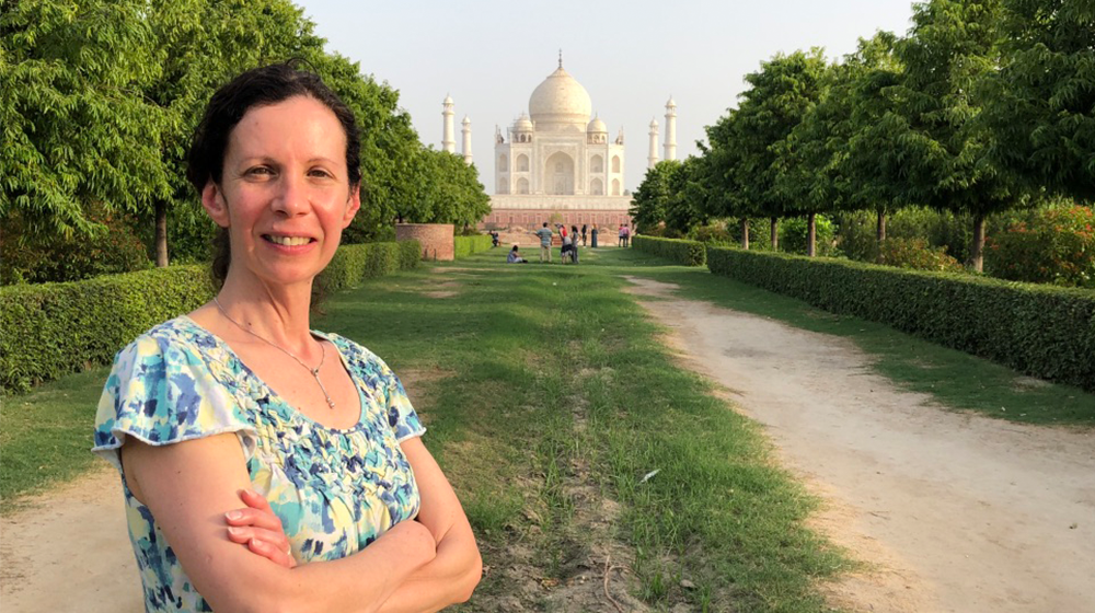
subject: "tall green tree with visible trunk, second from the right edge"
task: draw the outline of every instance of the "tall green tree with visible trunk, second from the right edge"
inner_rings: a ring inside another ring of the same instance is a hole
[[[890,88],[897,113],[891,142],[906,172],[904,199],[973,218],[970,265],[983,265],[984,220],[1024,204],[1026,194],[987,159],[991,135],[976,122],[978,83],[995,70],[1000,0],[930,0],[913,5],[909,38],[895,49],[904,65]]]

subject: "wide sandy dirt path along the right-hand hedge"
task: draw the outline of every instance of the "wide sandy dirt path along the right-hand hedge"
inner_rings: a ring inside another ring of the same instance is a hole
[[[629,277],[689,367],[764,424],[826,500],[818,528],[874,569],[858,611],[1095,611],[1095,433],[932,406],[850,342],[672,297]]]

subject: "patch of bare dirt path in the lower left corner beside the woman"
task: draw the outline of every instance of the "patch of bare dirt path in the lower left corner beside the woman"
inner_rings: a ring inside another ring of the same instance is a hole
[[[122,483],[106,463],[0,519],[0,611],[143,610]]]

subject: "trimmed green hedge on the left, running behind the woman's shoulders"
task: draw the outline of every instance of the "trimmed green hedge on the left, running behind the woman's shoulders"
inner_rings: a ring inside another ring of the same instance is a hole
[[[414,268],[417,241],[338,247],[316,279],[324,291]],[[197,309],[214,297],[206,266],[172,266],[67,284],[0,288],[0,389],[32,385],[94,365],[153,325]]]

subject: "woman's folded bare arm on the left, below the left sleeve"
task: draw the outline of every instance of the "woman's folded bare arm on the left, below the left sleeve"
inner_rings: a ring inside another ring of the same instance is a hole
[[[285,568],[231,542],[224,513],[251,486],[235,435],[151,447],[129,439],[123,464],[198,592],[218,613],[364,612],[404,586],[437,555],[424,524],[404,521],[365,550]]]

